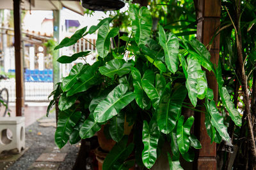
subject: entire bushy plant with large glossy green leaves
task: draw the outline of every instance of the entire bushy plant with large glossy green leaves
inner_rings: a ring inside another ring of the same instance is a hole
[[[135,162],[149,169],[164,141],[172,148],[172,153],[168,153],[170,169],[182,169],[180,155],[192,162],[193,148],[201,148],[190,132],[194,117],[185,120],[182,107],[195,110],[198,99],[204,99],[205,125],[212,142],[229,141],[202,67],[215,74],[222,105],[236,125],[241,125],[241,117],[227,89],[222,87],[220,67],[213,66],[202,43],[179,39],[161,25],[158,34],[153,35],[152,17],[145,7],[130,5],[129,18],[132,32],[119,37],[126,41],[125,46],[111,48],[111,38],[119,31],[110,28],[112,18],[101,20],[87,32],[84,27],[56,46],[55,49],[72,45],[98,30],[97,62],[92,66],[76,64],[52,92],[54,99],[60,97],[56,145],[62,148],[68,140],[74,144],[92,138],[104,125],[106,138],[116,143],[104,159],[103,169],[129,169]],[[89,53],[61,56],[58,62],[70,63]],[[191,103],[184,102],[186,96]],[[129,137],[125,127],[132,127]]]

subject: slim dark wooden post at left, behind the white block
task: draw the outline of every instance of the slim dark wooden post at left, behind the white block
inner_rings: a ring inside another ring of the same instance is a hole
[[[15,79],[16,79],[16,116],[24,115],[24,78],[21,47],[20,0],[13,0]]]

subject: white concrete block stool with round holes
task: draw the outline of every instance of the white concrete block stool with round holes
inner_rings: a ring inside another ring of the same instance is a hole
[[[0,117],[0,153],[25,148],[25,117]]]

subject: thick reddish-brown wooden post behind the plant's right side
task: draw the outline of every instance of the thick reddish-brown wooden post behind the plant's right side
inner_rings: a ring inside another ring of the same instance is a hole
[[[195,1],[197,8],[196,19],[197,19],[197,39],[208,45],[214,35],[214,32],[220,26],[220,15],[221,15],[221,1],[220,0],[197,0]],[[211,45],[211,62],[218,66],[220,52],[220,34],[214,38]],[[209,71],[206,72],[207,81],[209,87],[214,92],[214,100],[218,99],[218,85],[214,74]],[[216,143],[211,144],[205,129],[205,114],[198,114],[198,122],[200,125],[200,142],[202,149],[199,151],[197,169],[217,169],[216,162]]]

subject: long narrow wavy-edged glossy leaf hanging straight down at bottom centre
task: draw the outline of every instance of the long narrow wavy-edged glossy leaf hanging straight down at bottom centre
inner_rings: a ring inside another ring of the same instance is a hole
[[[148,169],[150,169],[156,162],[157,143],[160,136],[157,122],[154,117],[150,120],[149,125],[147,121],[144,120],[142,130],[142,141],[144,144],[144,149],[142,151],[142,161],[145,167]]]

